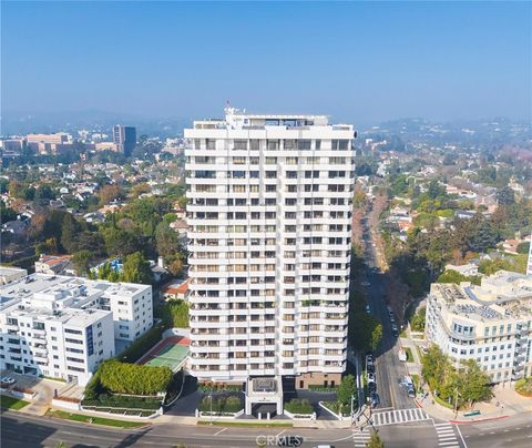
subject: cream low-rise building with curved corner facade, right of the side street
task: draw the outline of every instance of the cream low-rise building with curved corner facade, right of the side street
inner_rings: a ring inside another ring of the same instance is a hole
[[[493,383],[532,374],[532,276],[500,271],[481,286],[432,284],[426,337],[458,367],[475,359]]]

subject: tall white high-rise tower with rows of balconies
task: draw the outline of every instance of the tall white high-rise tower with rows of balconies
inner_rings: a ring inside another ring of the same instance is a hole
[[[352,125],[225,112],[185,130],[192,373],[338,385],[347,355]]]

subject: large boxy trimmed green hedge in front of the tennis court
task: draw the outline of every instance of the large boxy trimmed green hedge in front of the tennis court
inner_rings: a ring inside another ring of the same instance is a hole
[[[168,367],[151,367],[110,359],[100,366],[101,385],[119,394],[155,395],[166,390],[172,381]]]

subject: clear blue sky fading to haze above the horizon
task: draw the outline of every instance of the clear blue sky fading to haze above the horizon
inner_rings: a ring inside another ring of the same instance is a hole
[[[6,2],[2,113],[531,118],[531,2]]]

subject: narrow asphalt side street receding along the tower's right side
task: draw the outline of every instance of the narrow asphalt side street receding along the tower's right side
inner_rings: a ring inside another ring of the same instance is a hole
[[[382,323],[382,343],[376,353],[377,393],[380,397],[380,408],[407,409],[415,408],[412,398],[399,385],[399,379],[407,375],[403,363],[398,358],[398,340],[391,333],[391,323],[385,302],[385,278],[377,263],[376,247],[372,245],[372,232],[367,221],[362,222],[365,230],[365,261],[364,278],[369,283],[366,287],[371,314]]]

